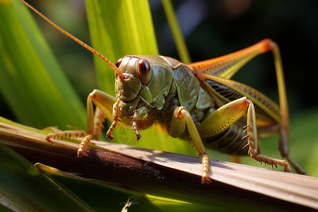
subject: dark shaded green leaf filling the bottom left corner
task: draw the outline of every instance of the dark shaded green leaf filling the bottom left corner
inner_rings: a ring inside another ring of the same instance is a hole
[[[83,200],[0,146],[0,204],[13,211],[90,211]],[[58,203],[58,204],[57,204]]]

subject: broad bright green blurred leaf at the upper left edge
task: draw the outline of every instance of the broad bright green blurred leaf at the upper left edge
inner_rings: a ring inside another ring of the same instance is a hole
[[[0,2],[0,54],[1,95],[21,123],[85,126],[83,104],[20,1]]]

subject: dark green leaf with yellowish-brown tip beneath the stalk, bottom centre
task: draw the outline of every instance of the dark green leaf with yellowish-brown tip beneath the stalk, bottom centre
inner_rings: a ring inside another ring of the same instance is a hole
[[[95,211],[103,211],[106,208],[107,211],[120,211],[125,206],[129,208],[128,211],[162,211],[146,195],[136,190],[85,179],[40,163],[35,167],[54,182],[62,184],[70,193],[75,193],[85,200]]]

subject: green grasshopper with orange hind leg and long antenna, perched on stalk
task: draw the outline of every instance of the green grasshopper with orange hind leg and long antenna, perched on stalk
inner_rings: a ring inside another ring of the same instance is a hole
[[[305,170],[288,155],[288,104],[283,67],[278,45],[261,40],[238,52],[182,64],[163,56],[131,55],[112,64],[105,56],[78,38],[59,28],[35,8],[20,0],[57,30],[103,59],[115,72],[116,97],[93,90],[87,98],[87,130],[61,131],[47,136],[47,141],[63,136],[81,136],[78,157],[87,155],[86,146],[100,133],[100,125],[112,120],[107,138],[119,122],[132,127],[139,140],[139,130],[160,124],[175,138],[189,133],[201,156],[202,183],[211,182],[206,147],[233,154],[248,154],[272,166],[281,165],[291,172],[290,165],[301,174]],[[271,51],[276,67],[280,107],[258,90],[230,78],[249,60]],[[96,106],[95,112],[94,107]],[[280,134],[279,150],[285,160],[258,153],[258,138]],[[290,165],[289,165],[290,164]]]

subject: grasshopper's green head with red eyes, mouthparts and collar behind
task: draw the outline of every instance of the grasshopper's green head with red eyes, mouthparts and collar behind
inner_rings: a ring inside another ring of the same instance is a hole
[[[126,56],[119,59],[115,66],[122,76],[116,76],[117,102],[113,110],[114,123],[109,132],[121,117],[122,124],[131,124],[137,139],[140,139],[139,129],[146,129],[155,121],[147,118],[148,112],[161,110],[165,104],[172,84],[172,66],[161,56]],[[110,133],[107,132],[107,135],[110,136]]]

